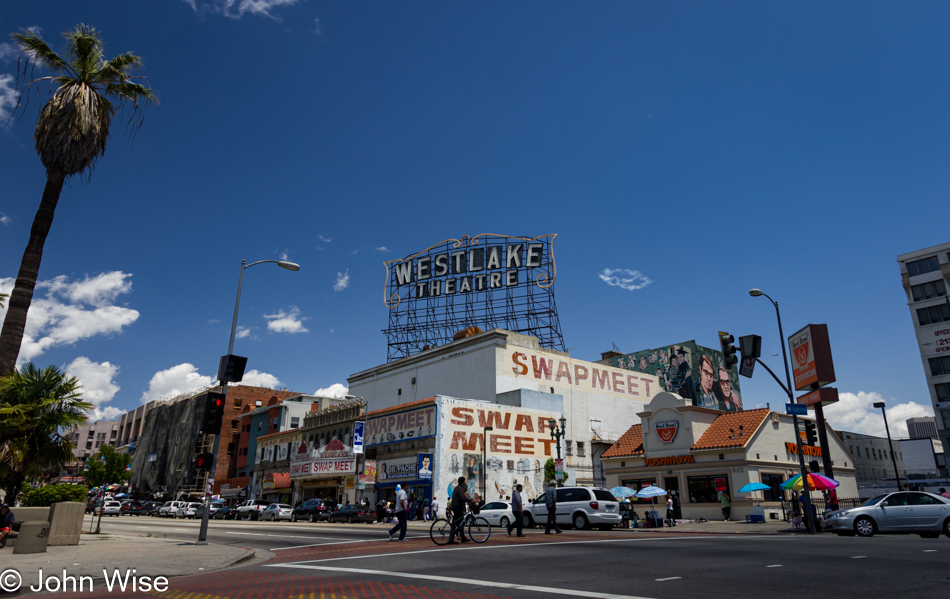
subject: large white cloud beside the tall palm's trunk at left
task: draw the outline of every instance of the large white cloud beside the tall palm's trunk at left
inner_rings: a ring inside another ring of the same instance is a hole
[[[51,347],[72,345],[96,335],[121,333],[138,320],[137,310],[114,305],[116,298],[132,290],[123,272],[102,273],[82,281],[65,275],[36,284],[33,302],[26,317],[26,330],[17,364],[41,356]],[[14,279],[0,279],[0,292],[10,293]],[[45,297],[42,295],[45,292]],[[0,308],[0,318],[6,314]]]

